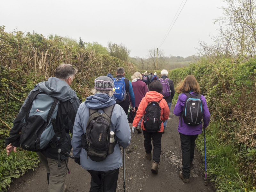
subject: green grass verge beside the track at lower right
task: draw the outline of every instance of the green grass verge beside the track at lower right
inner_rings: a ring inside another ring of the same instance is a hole
[[[220,123],[212,122],[205,131],[207,180],[216,184],[218,192],[256,192],[250,175],[242,174],[243,159],[238,155],[238,145],[224,143],[216,135]],[[196,147],[204,157],[204,136],[198,135]],[[204,166],[204,165],[203,165]]]

